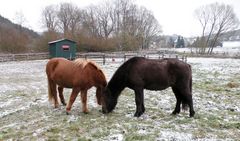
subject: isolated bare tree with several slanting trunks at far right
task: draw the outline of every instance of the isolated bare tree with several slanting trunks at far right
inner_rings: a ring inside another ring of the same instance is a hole
[[[208,46],[208,54],[212,54],[213,48],[222,33],[234,30],[239,25],[233,7],[230,5],[213,3],[200,7],[195,14],[202,25],[201,42],[202,53]]]

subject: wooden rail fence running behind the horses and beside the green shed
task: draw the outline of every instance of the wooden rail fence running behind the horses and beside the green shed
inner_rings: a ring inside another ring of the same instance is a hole
[[[134,56],[142,56],[151,59],[161,58],[178,58],[179,60],[187,62],[187,56],[178,55],[174,53],[164,54],[163,52],[113,52],[113,53],[76,53],[76,58],[91,59],[97,62],[105,64],[107,61],[122,59],[123,61],[128,60]],[[23,61],[23,60],[41,60],[49,59],[49,53],[26,53],[26,54],[3,54],[0,55],[0,62],[8,61]]]

